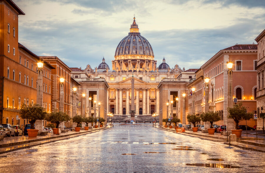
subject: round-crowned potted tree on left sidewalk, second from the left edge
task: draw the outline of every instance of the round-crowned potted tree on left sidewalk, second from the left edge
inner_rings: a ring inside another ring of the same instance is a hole
[[[59,135],[59,124],[64,121],[70,120],[69,115],[67,115],[65,112],[59,111],[59,112],[51,112],[50,114],[47,114],[45,120],[56,123],[56,127],[52,128],[53,134]]]

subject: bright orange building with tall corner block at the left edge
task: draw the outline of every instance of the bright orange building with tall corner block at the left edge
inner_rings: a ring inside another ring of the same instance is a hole
[[[18,43],[18,15],[23,11],[12,1],[0,2],[0,123],[25,125],[19,109],[24,103],[35,104],[37,100],[37,55]],[[51,69],[44,61],[43,107],[51,105]]]

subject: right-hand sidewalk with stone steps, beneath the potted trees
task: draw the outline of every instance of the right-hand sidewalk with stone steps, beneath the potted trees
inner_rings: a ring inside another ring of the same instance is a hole
[[[176,133],[175,129],[171,130],[171,129],[162,128],[162,127],[156,127],[156,128]],[[251,131],[251,132],[254,133],[254,131]],[[242,134],[241,137],[236,139],[236,142],[230,142],[231,146],[242,148],[244,150],[265,152],[264,137],[263,136],[259,137],[259,135],[258,137],[256,137],[256,131],[254,134],[253,133],[249,134],[249,131],[248,131],[248,137],[246,137],[246,134]],[[208,133],[203,133],[201,131],[193,132],[193,131],[185,130],[185,132],[178,131],[177,134],[186,135],[190,137],[197,137],[203,140],[210,140],[214,142],[224,142],[224,144],[229,145],[229,142],[227,141],[227,136],[221,135],[221,133],[215,133],[214,135],[209,135]]]

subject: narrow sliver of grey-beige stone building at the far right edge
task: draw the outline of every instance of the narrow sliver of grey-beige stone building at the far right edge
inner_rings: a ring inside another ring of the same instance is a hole
[[[265,74],[265,30],[263,30],[259,36],[255,39],[258,43],[258,61],[257,61],[257,94],[254,98],[257,99],[257,129],[261,130],[263,128],[263,120],[260,118],[260,113],[265,109],[265,84],[264,84],[264,74]]]

